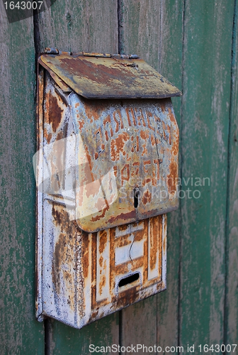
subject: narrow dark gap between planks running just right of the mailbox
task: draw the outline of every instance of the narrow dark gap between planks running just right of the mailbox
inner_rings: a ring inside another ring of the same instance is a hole
[[[182,75],[181,75],[181,89],[182,93],[184,92],[184,52],[185,52],[185,16],[186,16],[186,0],[183,0],[183,44],[182,44]],[[181,150],[180,150],[180,178],[182,180],[183,178],[183,100],[184,97],[182,95],[181,97],[181,127],[180,127],[180,145],[181,145]],[[181,223],[179,224],[179,275],[178,275],[178,346],[181,346],[181,265],[182,265],[182,235],[183,235],[183,230],[182,230],[182,205],[181,202],[179,204],[179,215],[180,215],[180,221]],[[181,353],[179,353],[181,354]]]

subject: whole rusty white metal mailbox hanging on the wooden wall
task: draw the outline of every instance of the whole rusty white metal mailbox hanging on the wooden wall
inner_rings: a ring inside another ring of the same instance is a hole
[[[136,55],[38,63],[36,315],[81,328],[166,288],[181,93]]]

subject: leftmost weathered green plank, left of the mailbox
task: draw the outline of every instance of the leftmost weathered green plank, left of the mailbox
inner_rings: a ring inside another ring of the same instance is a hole
[[[33,18],[0,3],[0,352],[44,354],[35,320],[35,48]]]

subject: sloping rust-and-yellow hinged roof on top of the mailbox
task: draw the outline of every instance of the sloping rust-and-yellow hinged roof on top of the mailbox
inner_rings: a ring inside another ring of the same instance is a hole
[[[50,72],[87,99],[162,99],[181,92],[145,60],[120,55],[84,53],[42,54],[39,58]]]

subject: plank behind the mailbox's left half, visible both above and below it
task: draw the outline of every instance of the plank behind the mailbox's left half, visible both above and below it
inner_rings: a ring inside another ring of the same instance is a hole
[[[36,21],[38,51],[45,47],[75,52],[118,53],[118,11],[116,0],[59,1]],[[49,354],[89,354],[89,345],[119,343],[118,313],[83,329],[48,321]],[[111,354],[105,349],[103,354]],[[116,353],[115,353],[116,354]]]

